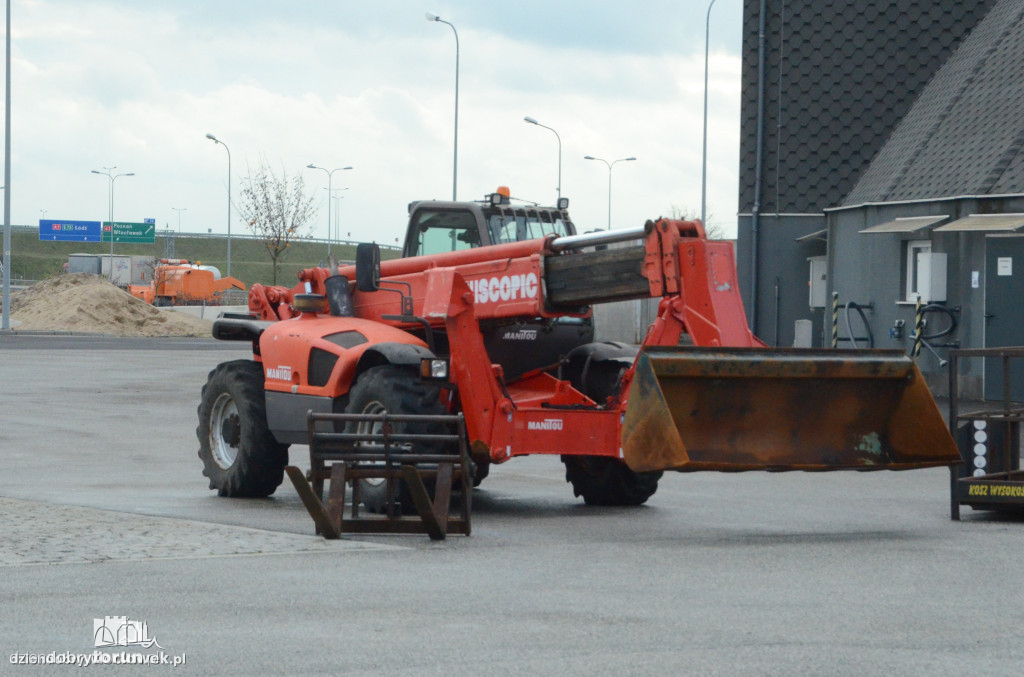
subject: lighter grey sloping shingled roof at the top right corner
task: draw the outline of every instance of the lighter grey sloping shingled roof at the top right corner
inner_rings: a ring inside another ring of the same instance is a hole
[[[843,200],[1024,193],[1024,3],[997,0]]]

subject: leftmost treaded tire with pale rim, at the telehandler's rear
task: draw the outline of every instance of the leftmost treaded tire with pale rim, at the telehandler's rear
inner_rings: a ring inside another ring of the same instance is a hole
[[[199,405],[199,457],[220,496],[270,496],[284,479],[288,445],[266,425],[263,368],[251,359],[218,365]]]

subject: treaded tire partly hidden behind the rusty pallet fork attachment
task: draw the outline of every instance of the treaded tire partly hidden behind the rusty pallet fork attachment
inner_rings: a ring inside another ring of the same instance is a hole
[[[426,414],[431,416],[444,415],[446,412],[440,401],[440,388],[432,383],[422,381],[419,375],[409,369],[393,365],[374,367],[364,372],[348,394],[346,414]],[[349,423],[348,432],[371,432],[380,429],[380,425],[367,423]],[[445,434],[446,427],[441,423],[395,423],[396,433]],[[447,450],[451,451],[451,450]],[[415,454],[441,454],[445,450],[438,442],[420,442],[412,448]],[[433,493],[431,482],[426,482],[427,490]],[[395,482],[395,499],[403,511],[414,511],[412,498],[404,482]],[[387,484],[380,480],[359,480],[359,499],[371,512],[384,512],[387,509]]]

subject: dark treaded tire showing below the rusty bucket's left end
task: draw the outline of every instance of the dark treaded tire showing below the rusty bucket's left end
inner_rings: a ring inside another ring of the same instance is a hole
[[[662,471],[633,472],[618,459],[607,456],[562,456],[565,481],[587,505],[635,506],[657,491]]]

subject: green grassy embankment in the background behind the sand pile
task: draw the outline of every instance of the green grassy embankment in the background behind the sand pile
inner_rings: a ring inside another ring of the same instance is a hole
[[[227,274],[227,238],[224,236],[175,235],[174,258],[184,258],[194,263],[215,265]],[[114,245],[114,255],[154,256],[163,258],[165,238],[157,237],[153,245]],[[69,254],[110,254],[105,243],[44,242],[39,240],[39,229],[34,226],[11,228],[10,277],[13,280],[46,280],[59,274]],[[339,261],[355,258],[353,245],[335,244],[331,254]],[[381,249],[381,258],[394,258],[394,249]],[[303,268],[326,263],[327,244],[324,242],[293,242],[278,268],[278,284],[294,287],[296,274]],[[273,283],[270,257],[258,240],[231,238],[231,276],[251,286],[254,283]]]

